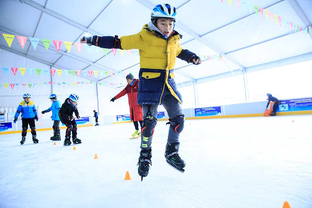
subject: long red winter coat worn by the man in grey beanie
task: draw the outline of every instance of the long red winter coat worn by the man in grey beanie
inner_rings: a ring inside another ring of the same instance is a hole
[[[137,104],[137,94],[138,94],[138,83],[139,80],[136,79],[133,85],[127,85],[119,94],[115,96],[116,99],[121,98],[125,94],[128,94],[128,101],[130,107],[130,119],[131,121],[143,121],[143,111],[142,107]],[[132,110],[133,110],[133,120],[132,120]]]

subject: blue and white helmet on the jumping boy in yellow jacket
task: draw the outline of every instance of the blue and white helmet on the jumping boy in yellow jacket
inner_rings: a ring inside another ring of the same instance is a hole
[[[178,13],[175,7],[171,7],[170,4],[158,4],[151,12],[151,18],[153,20],[164,18],[173,19],[174,22],[178,21]]]

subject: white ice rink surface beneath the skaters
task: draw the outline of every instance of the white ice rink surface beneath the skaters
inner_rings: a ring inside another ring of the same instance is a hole
[[[142,182],[133,123],[78,128],[70,146],[65,129],[56,145],[52,131],[38,130],[37,144],[0,135],[0,207],[312,207],[312,115],[186,120],[184,173],[166,163],[168,128],[155,128]]]

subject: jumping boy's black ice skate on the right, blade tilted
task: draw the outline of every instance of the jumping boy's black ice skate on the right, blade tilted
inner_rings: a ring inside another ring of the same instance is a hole
[[[172,145],[167,143],[165,157],[168,165],[183,173],[183,167],[185,167],[185,162],[179,156],[179,146],[179,142],[173,143]]]

